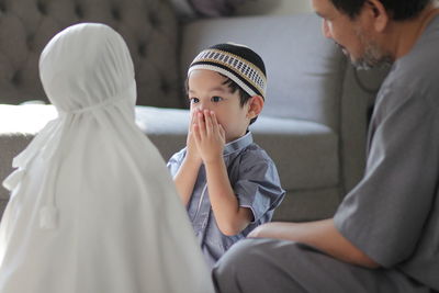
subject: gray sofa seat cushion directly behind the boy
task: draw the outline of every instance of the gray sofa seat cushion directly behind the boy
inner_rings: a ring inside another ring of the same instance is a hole
[[[188,110],[139,106],[136,114],[137,124],[156,143],[166,160],[176,149],[184,147]],[[326,188],[338,183],[337,135],[329,127],[262,115],[250,129],[255,142],[275,162],[284,189]]]

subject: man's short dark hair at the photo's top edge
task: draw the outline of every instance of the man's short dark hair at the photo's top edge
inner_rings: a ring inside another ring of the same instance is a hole
[[[335,8],[351,19],[360,14],[367,0],[330,0]],[[380,0],[390,16],[395,21],[416,18],[432,0]]]

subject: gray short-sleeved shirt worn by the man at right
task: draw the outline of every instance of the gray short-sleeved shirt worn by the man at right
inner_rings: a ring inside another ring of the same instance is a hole
[[[378,263],[439,290],[439,16],[380,89],[368,151],[337,228]]]

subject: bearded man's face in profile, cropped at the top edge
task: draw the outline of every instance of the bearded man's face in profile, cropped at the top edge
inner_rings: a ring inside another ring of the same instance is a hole
[[[331,38],[357,68],[369,69],[391,63],[389,54],[371,36],[370,19],[364,10],[353,20],[337,10],[330,0],[312,0],[314,11],[323,19],[323,34]]]

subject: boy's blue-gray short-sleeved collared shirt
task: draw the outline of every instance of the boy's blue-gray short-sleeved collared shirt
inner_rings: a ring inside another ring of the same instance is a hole
[[[179,170],[185,151],[187,149],[183,148],[169,159],[168,168],[172,177]],[[285,194],[274,162],[262,148],[254,143],[250,132],[225,145],[224,161],[239,205],[249,207],[255,219],[234,236],[226,236],[218,229],[209,199],[204,165],[202,165],[188,204],[188,214],[203,253],[211,266],[233,244],[245,238],[257,226],[270,222],[274,209]]]

